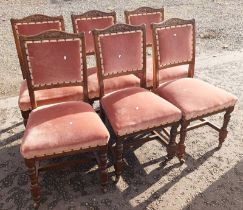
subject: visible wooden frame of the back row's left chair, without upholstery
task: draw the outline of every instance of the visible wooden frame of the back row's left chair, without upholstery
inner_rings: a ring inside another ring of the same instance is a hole
[[[20,35],[18,34],[18,29],[16,27],[17,24],[60,22],[60,30],[65,31],[64,19],[63,19],[63,16],[47,16],[47,15],[35,14],[35,15],[30,15],[30,16],[24,17],[22,19],[11,18],[10,21],[11,21],[11,25],[12,25],[12,31],[13,31],[15,46],[16,46],[17,55],[18,55],[18,59],[19,59],[20,69],[22,72],[22,77],[23,77],[23,79],[26,79],[26,70],[24,68],[23,55],[22,55],[20,41],[19,41]],[[31,109],[27,110],[27,111],[22,111],[22,110],[20,110],[20,111],[21,111],[21,115],[23,117],[24,125],[26,126]]]

